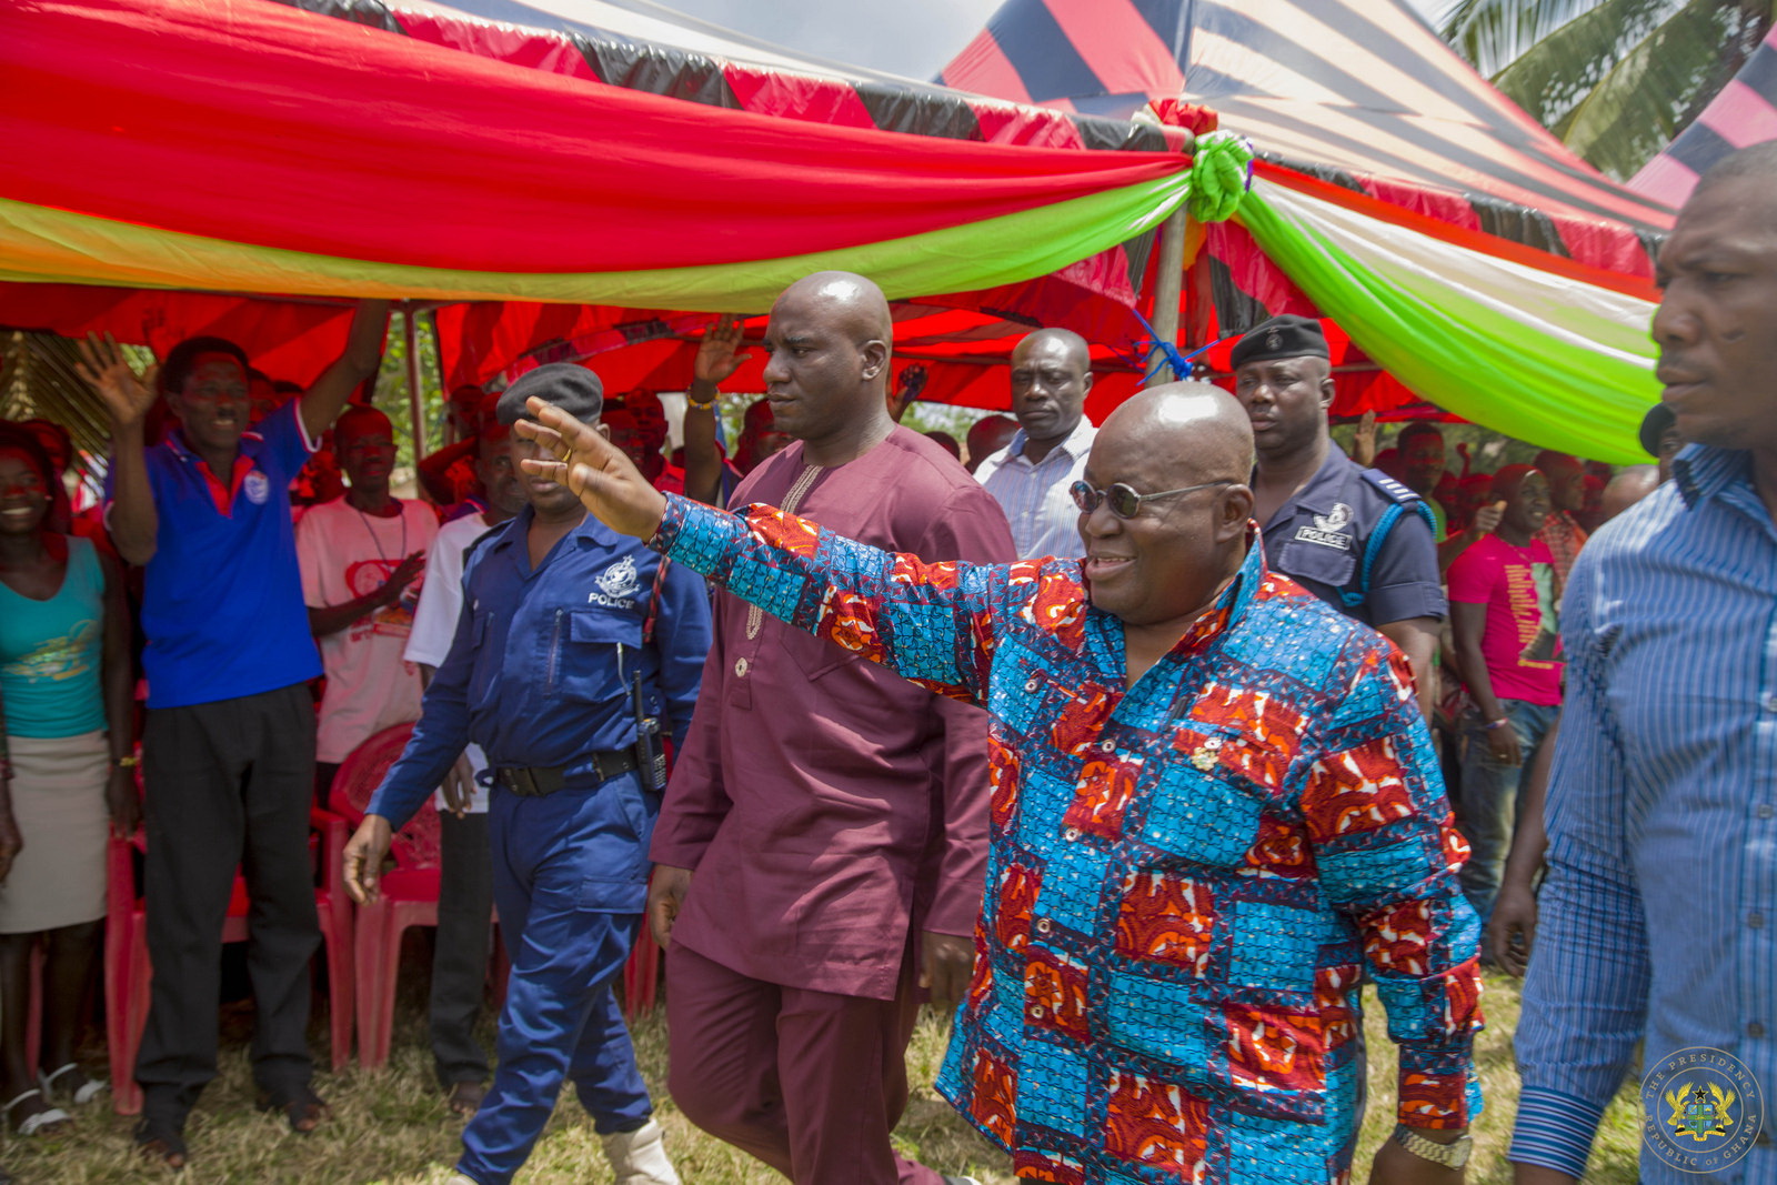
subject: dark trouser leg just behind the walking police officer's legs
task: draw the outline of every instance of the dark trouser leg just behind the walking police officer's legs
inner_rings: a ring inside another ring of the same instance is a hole
[[[423,807],[421,810],[430,810]],[[487,984],[494,867],[487,815],[439,812],[439,929],[432,950],[432,1061],[439,1082],[485,1082],[487,1050],[474,1039]]]

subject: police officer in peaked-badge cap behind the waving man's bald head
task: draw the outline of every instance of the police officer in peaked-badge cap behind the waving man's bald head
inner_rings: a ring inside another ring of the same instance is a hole
[[[1233,348],[1235,398],[1253,423],[1253,517],[1265,560],[1407,656],[1430,709],[1432,654],[1448,613],[1425,501],[1363,469],[1327,435],[1333,364],[1320,322],[1274,316]]]

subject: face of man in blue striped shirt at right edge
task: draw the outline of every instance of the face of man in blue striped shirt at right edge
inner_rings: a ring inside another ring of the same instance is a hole
[[[1685,441],[1777,449],[1777,181],[1699,187],[1660,251],[1653,336]]]

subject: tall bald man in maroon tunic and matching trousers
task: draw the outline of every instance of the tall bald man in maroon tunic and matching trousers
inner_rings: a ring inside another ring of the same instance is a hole
[[[999,503],[888,418],[890,339],[888,304],[860,275],[778,297],[764,378],[796,442],[734,505],[924,560],[1013,560]],[[668,1086],[693,1123],[798,1185],[942,1180],[888,1133],[915,988],[967,988],[986,794],[979,709],[718,593],[649,894],[672,984]]]

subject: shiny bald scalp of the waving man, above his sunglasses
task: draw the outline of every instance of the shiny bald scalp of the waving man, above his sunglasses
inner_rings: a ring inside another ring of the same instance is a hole
[[[1098,428],[1111,455],[1139,449],[1160,469],[1162,489],[1239,481],[1253,473],[1253,425],[1239,400],[1208,382],[1169,382],[1127,400]]]

